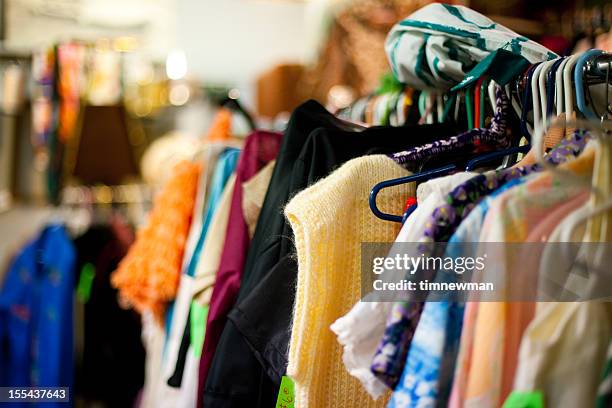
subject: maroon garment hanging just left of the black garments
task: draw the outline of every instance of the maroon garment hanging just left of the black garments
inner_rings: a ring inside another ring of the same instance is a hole
[[[282,137],[280,133],[264,131],[251,133],[246,139],[236,166],[236,184],[232,193],[225,243],[210,299],[204,345],[200,357],[197,406],[202,406],[206,374],[217,349],[221,332],[225,327],[227,314],[236,302],[249,248],[249,231],[242,212],[242,183],[251,179],[260,169],[276,158]]]

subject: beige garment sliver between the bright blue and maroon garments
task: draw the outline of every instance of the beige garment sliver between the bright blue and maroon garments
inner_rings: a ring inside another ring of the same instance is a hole
[[[229,221],[229,212],[232,204],[232,195],[236,185],[236,174],[232,174],[227,180],[219,204],[215,210],[210,226],[206,233],[204,246],[198,259],[193,281],[193,298],[201,305],[210,302],[221,253],[225,244],[225,233]]]

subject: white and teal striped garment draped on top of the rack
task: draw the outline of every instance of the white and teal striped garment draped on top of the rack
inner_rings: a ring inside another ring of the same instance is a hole
[[[397,23],[385,43],[393,74],[418,89],[447,90],[497,49],[535,63],[555,58],[546,47],[463,6],[433,3]]]

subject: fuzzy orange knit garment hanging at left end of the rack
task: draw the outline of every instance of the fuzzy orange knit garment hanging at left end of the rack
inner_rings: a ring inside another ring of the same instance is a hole
[[[140,313],[151,311],[160,322],[178,289],[200,172],[201,166],[189,161],[176,165],[111,278],[122,303]]]

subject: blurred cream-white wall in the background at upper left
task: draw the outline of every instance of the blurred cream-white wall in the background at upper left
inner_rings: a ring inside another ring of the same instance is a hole
[[[316,58],[322,15],[339,0],[6,0],[5,47],[129,35],[163,61],[185,52],[189,75],[237,87],[248,105],[259,74]],[[144,10],[144,11],[143,11]]]

